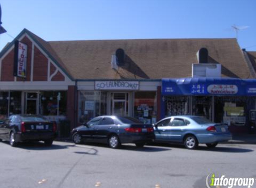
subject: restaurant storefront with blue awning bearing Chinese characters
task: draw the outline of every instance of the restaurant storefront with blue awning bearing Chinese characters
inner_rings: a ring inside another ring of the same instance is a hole
[[[163,79],[162,95],[162,117],[200,115],[216,123],[227,123],[231,132],[248,132],[248,114],[256,109],[256,79]]]

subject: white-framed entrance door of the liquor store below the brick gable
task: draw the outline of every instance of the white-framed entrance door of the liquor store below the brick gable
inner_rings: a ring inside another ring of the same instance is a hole
[[[39,113],[39,94],[35,92],[25,93],[25,114]]]

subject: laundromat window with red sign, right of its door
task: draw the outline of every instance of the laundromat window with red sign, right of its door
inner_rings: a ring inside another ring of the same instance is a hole
[[[134,95],[134,117],[143,123],[156,122],[156,92],[138,91]]]

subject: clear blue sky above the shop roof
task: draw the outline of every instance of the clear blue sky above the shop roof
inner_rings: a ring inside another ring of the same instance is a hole
[[[256,51],[256,0],[0,0],[0,50],[22,29],[46,41],[235,38]]]

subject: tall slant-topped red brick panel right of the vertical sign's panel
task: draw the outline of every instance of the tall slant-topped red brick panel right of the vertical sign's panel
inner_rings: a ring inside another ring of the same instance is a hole
[[[47,81],[48,59],[41,51],[34,47],[34,73],[33,81]]]

